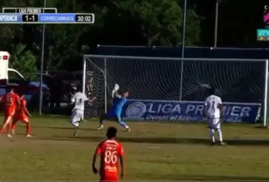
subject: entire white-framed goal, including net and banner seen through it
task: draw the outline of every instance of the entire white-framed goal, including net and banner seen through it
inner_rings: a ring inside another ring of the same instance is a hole
[[[262,109],[266,126],[268,67],[267,59],[84,55],[83,91],[97,97],[94,104],[86,106],[85,115],[106,112],[112,89],[118,84],[130,91],[123,117],[203,120],[203,101],[208,89],[214,87],[225,102],[224,121],[255,123]]]

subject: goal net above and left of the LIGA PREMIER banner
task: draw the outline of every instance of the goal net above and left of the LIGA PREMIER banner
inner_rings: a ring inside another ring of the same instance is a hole
[[[85,91],[91,83],[97,97],[85,114],[103,112],[115,84],[134,99],[204,101],[214,87],[227,102],[265,104],[266,65],[267,60],[85,55]]]

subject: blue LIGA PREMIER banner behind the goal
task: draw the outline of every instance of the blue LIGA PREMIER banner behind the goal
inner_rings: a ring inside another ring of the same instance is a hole
[[[202,101],[128,99],[122,111],[127,119],[202,121]],[[224,102],[224,122],[255,123],[260,103]]]

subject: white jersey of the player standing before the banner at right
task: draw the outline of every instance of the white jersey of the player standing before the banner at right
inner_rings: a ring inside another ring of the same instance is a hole
[[[221,98],[217,95],[210,95],[205,100],[205,111],[208,117],[219,118],[220,117],[220,109],[218,105],[222,104]]]

